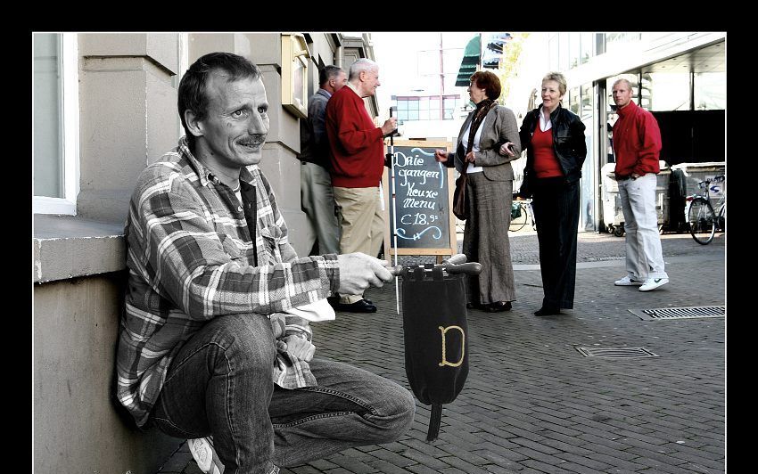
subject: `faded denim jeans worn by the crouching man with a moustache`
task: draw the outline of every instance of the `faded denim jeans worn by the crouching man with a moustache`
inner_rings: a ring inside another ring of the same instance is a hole
[[[226,474],[269,474],[356,445],[389,443],[413,421],[406,388],[314,358],[317,387],[277,387],[276,349],[262,315],[206,323],[174,358],[152,420],[173,437],[213,436]]]

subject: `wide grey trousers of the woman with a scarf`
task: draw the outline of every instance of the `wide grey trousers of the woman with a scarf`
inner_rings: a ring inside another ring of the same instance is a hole
[[[469,218],[463,234],[468,261],[482,264],[482,273],[469,277],[469,301],[487,305],[515,300],[514,268],[508,225],[511,222],[513,181],[490,181],[484,173],[468,175]]]

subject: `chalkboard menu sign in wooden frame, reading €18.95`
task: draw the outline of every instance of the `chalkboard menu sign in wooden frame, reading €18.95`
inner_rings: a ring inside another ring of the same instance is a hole
[[[390,249],[390,254],[395,251],[398,255],[457,253],[455,217],[450,212],[454,169],[434,160],[435,149],[447,150],[449,143],[396,140],[391,147],[394,169],[385,173],[383,185],[388,193],[390,227],[390,232],[385,234],[384,248]]]

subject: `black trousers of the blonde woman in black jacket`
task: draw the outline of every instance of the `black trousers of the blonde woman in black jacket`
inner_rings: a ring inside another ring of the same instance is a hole
[[[579,182],[564,178],[535,180],[531,207],[540,242],[542,306],[573,308],[576,286],[576,235],[579,226]]]

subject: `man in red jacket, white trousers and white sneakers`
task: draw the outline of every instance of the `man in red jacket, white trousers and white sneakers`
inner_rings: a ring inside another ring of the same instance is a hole
[[[614,284],[639,286],[640,291],[655,290],[669,282],[655,211],[661,130],[653,114],[631,100],[628,80],[615,81],[613,95],[619,114],[614,124],[615,177],[626,231],[627,270]]]

